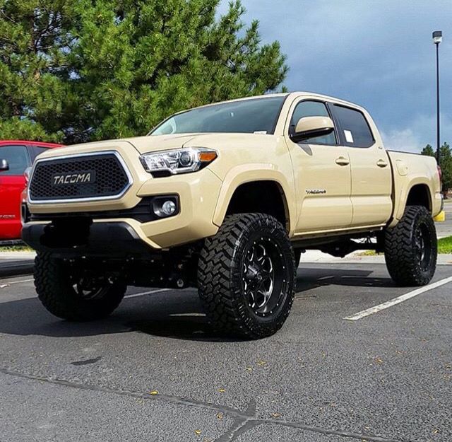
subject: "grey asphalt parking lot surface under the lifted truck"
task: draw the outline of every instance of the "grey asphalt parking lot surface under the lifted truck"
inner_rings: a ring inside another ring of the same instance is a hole
[[[383,264],[302,263],[283,329],[244,342],[209,332],[192,289],[133,288],[74,324],[30,276],[1,279],[0,440],[451,441],[451,291],[347,320],[412,289]]]

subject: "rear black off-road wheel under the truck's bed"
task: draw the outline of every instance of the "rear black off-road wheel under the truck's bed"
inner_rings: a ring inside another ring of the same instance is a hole
[[[385,233],[386,267],[399,286],[424,286],[436,270],[438,245],[432,215],[423,206],[407,206],[402,219]]]

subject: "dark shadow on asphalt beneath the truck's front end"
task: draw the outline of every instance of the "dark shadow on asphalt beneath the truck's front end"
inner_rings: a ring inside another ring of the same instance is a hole
[[[107,319],[69,322],[54,317],[37,298],[0,303],[0,333],[47,337],[85,337],[124,332],[211,342],[241,339],[215,335],[201,310],[196,291],[125,298]]]

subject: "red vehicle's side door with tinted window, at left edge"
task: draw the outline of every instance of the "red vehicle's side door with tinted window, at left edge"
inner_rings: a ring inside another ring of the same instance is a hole
[[[20,238],[20,196],[25,187],[23,173],[31,165],[25,146],[0,146],[0,159],[8,161],[9,170],[0,172],[0,240]]]

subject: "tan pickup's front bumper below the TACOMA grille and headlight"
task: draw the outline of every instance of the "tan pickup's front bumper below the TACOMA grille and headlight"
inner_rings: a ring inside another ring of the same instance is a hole
[[[140,165],[142,168],[142,166]],[[72,235],[70,223],[64,224],[64,220],[69,219],[89,219],[92,229],[89,234],[89,243],[95,244],[94,236],[100,234],[96,225],[102,223],[121,224],[128,226],[128,231],[133,231],[134,235],[151,252],[158,249],[173,248],[178,245],[194,242],[201,238],[215,235],[218,226],[213,223],[215,208],[220,194],[222,181],[208,168],[195,173],[184,175],[174,175],[167,178],[150,178],[145,175],[145,180],[141,180],[141,185],[135,185],[124,194],[124,197],[111,202],[73,202],[64,204],[30,204],[30,222],[25,223],[24,240],[32,248],[42,250],[42,226],[49,226],[54,222],[59,222],[61,232],[66,228],[66,235]],[[164,195],[177,196],[179,201],[179,213],[162,219],[143,219],[132,215],[134,207],[138,207],[145,199],[155,199]],[[60,222],[61,221],[61,222]],[[33,228],[32,226],[40,226]],[[66,227],[64,227],[66,226]],[[131,229],[131,230],[130,230]],[[112,233],[109,241],[121,243],[121,238],[117,238]],[[64,243],[64,234],[59,236]],[[88,244],[89,245],[89,244]],[[100,245],[97,243],[100,247]],[[47,249],[49,246],[45,246]],[[125,241],[121,249],[127,252],[134,252],[135,247],[130,247],[130,242]],[[47,250],[46,249],[46,250]],[[53,250],[57,252],[58,243],[52,243]],[[83,248],[78,248],[82,251]],[[92,252],[93,248],[86,248]]]

